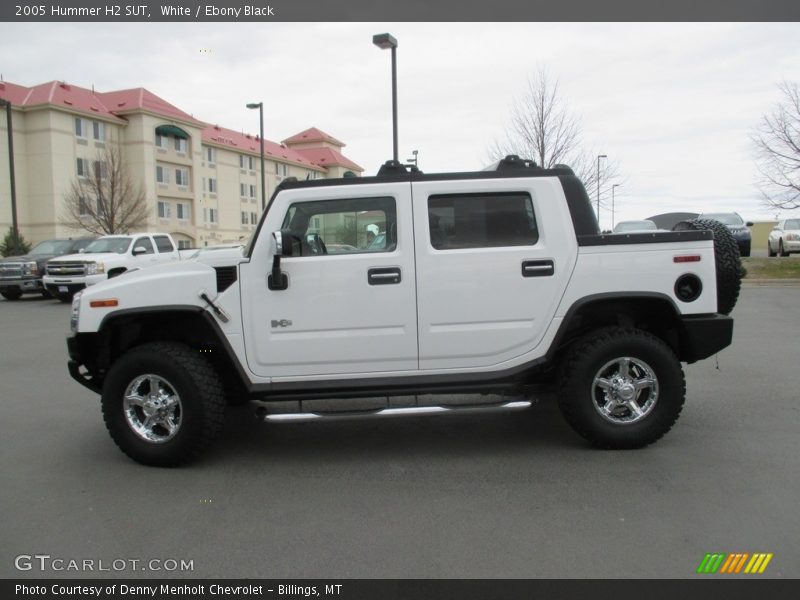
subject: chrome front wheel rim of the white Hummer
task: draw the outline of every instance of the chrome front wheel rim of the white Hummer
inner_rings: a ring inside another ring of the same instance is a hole
[[[172,384],[160,375],[141,375],[125,388],[123,411],[128,427],[154,444],[171,440],[183,420],[181,399]]]

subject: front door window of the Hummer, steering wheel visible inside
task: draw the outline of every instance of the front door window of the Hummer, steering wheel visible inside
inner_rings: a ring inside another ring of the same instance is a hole
[[[294,256],[391,252],[397,209],[390,197],[296,202],[283,229],[292,232]]]

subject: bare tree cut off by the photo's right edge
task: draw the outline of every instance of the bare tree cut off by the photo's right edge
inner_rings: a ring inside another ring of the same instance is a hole
[[[797,82],[778,85],[783,95],[762,117],[751,138],[760,174],[757,187],[769,208],[800,208],[800,87]]]

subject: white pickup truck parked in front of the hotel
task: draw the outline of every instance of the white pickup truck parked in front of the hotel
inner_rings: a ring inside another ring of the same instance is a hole
[[[126,271],[176,260],[180,260],[180,256],[169,234],[104,235],[80,254],[49,260],[42,281],[50,295],[62,302],[69,302],[75,292]]]

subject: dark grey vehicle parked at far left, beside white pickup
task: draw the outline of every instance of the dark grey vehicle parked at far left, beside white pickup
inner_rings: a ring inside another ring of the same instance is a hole
[[[0,259],[0,295],[18,300],[22,294],[50,294],[42,284],[45,264],[51,258],[82,251],[94,238],[47,240],[39,242],[24,256]]]

